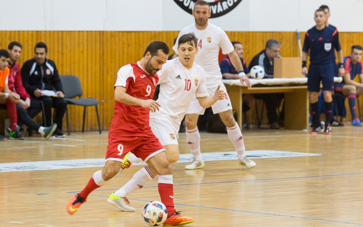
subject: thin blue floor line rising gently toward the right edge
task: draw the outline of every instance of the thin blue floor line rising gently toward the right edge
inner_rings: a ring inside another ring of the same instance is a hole
[[[339,176],[354,176],[354,175],[363,175],[363,173],[355,173],[355,174],[333,174],[333,175],[318,175],[318,176],[307,176],[307,177],[291,177],[291,178],[268,178],[268,179],[255,179],[255,180],[241,180],[241,181],[217,181],[217,182],[205,182],[205,183],[194,183],[194,184],[180,184],[175,186],[188,186],[188,185],[209,185],[209,184],[224,184],[224,183],[236,183],[236,182],[254,182],[254,181],[276,181],[276,180],[293,180],[293,179],[303,179],[303,178],[326,178],[326,177],[339,177]],[[158,186],[147,186],[143,188],[157,188]],[[100,189],[94,190],[97,191],[114,191],[117,189]],[[66,193],[78,193],[76,192],[66,192]]]

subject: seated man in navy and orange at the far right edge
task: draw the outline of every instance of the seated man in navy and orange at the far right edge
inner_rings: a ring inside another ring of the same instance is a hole
[[[360,45],[354,45],[351,47],[350,55],[344,58],[345,75],[343,77],[343,82],[334,83],[335,93],[348,96],[349,108],[352,116],[352,126],[362,125],[362,123],[356,117],[355,112],[356,95],[363,94],[363,64],[361,60],[362,50],[363,48]],[[338,76],[338,70],[339,64],[337,65],[337,69],[335,70],[336,76]],[[359,74],[360,83],[354,81],[354,78],[357,74]]]

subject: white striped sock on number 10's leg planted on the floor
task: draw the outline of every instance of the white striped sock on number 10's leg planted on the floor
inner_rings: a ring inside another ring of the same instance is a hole
[[[148,166],[145,166],[142,169],[140,169],[138,172],[136,172],[134,174],[134,177],[128,183],[126,183],[126,185],[124,185],[122,188],[114,192],[114,194],[116,196],[125,197],[130,193],[135,192],[138,189],[141,189],[154,178],[155,177],[151,173],[150,168]]]

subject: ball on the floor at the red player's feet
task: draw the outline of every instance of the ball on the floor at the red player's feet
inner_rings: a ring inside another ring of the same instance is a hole
[[[141,215],[148,225],[157,226],[164,223],[167,211],[162,202],[152,201],[145,204]]]

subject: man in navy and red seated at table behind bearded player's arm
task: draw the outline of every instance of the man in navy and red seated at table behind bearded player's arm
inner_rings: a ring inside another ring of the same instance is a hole
[[[234,42],[232,42],[232,45],[234,47],[234,51],[239,56],[239,59],[242,63],[246,76],[250,77],[250,70],[247,68],[246,61],[243,59],[244,51],[243,51],[242,44],[240,42],[234,41]],[[231,64],[228,55],[224,59],[222,59],[222,61],[219,64],[219,67],[221,69],[223,79],[239,80],[238,72],[234,68],[234,66]],[[242,98],[242,102],[243,102],[242,110],[243,110],[243,112],[246,112],[255,105],[256,99],[252,94],[244,94],[243,98]]]

